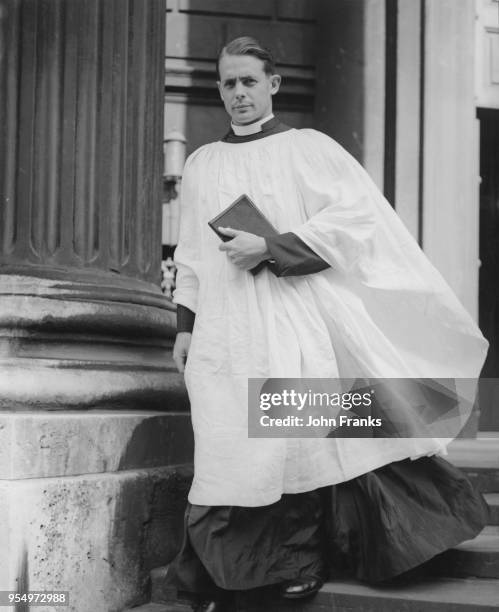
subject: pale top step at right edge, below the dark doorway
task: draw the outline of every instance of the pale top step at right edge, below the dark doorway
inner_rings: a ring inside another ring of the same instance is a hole
[[[475,488],[499,493],[499,437],[457,438],[447,450],[447,461],[462,469]]]

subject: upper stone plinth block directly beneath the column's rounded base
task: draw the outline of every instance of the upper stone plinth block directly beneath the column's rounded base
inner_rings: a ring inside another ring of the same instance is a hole
[[[189,463],[190,415],[157,411],[0,413],[0,478],[71,476]]]

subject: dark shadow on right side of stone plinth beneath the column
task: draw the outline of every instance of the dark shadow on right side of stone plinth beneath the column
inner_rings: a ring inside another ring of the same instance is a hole
[[[108,542],[118,582],[132,581],[147,592],[149,572],[180,549],[193,454],[187,415],[159,414],[136,427],[118,466],[119,472],[136,472],[120,487]]]

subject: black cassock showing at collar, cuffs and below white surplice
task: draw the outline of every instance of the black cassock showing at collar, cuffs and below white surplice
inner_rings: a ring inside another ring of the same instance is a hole
[[[224,140],[248,142],[286,129],[271,119],[257,134],[231,131]],[[292,232],[266,240],[277,276],[328,267]],[[177,308],[178,331],[192,331],[194,313]],[[188,503],[168,580],[205,594],[328,575],[378,583],[475,537],[487,516],[482,495],[445,459],[405,459],[337,485],[284,494],[268,506]]]

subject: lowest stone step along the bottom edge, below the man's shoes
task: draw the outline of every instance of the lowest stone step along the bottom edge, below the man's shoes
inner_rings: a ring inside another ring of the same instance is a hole
[[[169,603],[129,612],[187,612]],[[371,587],[353,581],[327,582],[311,600],[285,601],[267,596],[240,600],[237,612],[497,612],[499,581],[478,578],[434,578],[391,587]]]

